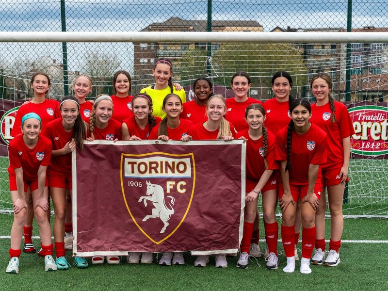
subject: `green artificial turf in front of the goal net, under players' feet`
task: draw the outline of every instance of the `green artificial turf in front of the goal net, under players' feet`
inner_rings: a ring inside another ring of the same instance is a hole
[[[13,216],[0,214],[0,236],[9,236]],[[52,221],[52,220],[51,220]],[[261,222],[262,223],[262,222]],[[326,220],[329,230],[330,220]],[[194,267],[194,257],[185,255],[185,265],[159,266],[154,263],[90,265],[87,269],[71,267],[67,271],[45,272],[44,262],[36,254],[20,257],[19,274],[6,274],[9,238],[0,239],[0,290],[388,290],[388,219],[346,219],[342,240],[385,241],[343,242],[341,263],[337,267],[311,266],[312,274],[282,271],[285,257],[279,254],[279,268],[267,270],[264,259],[251,259],[247,270],[236,268],[238,258],[228,257],[228,267],[217,269],[214,260],[206,268]],[[34,235],[37,226],[34,226]],[[263,233],[260,233],[263,237]],[[279,236],[280,238],[280,236]],[[327,236],[328,238],[328,231]],[[35,247],[39,240],[33,240]],[[327,244],[326,244],[327,245]],[[260,242],[264,249],[264,242]],[[300,242],[298,244],[300,247]],[[282,251],[278,243],[279,252]],[[300,255],[300,252],[299,252]],[[70,252],[66,257],[70,264]],[[90,260],[89,260],[90,262]]]

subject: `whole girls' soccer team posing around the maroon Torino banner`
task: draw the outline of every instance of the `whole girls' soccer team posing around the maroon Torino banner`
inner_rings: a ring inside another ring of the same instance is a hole
[[[82,150],[85,139],[113,142],[161,139],[167,142],[242,138],[247,144],[246,203],[237,267],[245,269],[250,255],[261,255],[257,211],[260,193],[267,243],[264,257],[268,269],[278,268],[278,224],[275,218],[278,198],[282,211],[281,237],[287,258],[283,271],[291,273],[295,269],[294,249],[300,227],[297,223],[298,201],[303,226],[300,272],[311,273],[309,264],[314,244],[313,264],[339,264],[343,229],[341,194],[344,183],[348,181],[350,136],[354,131],[346,107],[331,97],[330,77],[322,73],[312,78],[310,85],[317,99],[312,106],[306,100],[291,97],[292,79],[287,72],[273,76],[273,99],[262,104],[248,97],[251,80],[243,71],[236,72],[231,79],[235,97],[225,100],[221,95],[213,95],[210,80],[199,78],[194,82],[196,99],[183,104],[185,92],[176,89],[178,84],[173,85],[172,69],[169,60],[159,59],[153,69],[155,84],[142,89],[134,97],[129,96],[131,80],[128,72],[118,71],[113,76],[115,95],[97,97],[93,105],[85,102],[92,88],[92,81],[86,75],[74,81],[75,97],[65,97],[60,104],[45,98],[50,83],[47,75],[37,73],[32,77],[34,98],[19,109],[13,129],[15,138],[9,145],[10,190],[15,214],[7,273],[18,273],[24,224],[25,245],[28,243],[29,248],[33,248],[32,219],[28,219],[32,215],[28,213],[34,213],[38,222],[42,247],[39,253],[45,256],[45,270],[69,268],[64,243],[65,197],[66,192],[71,197],[71,152],[76,147]],[[18,134],[20,130],[21,134]],[[39,135],[43,131],[44,136]],[[326,196],[323,188],[327,189],[332,217],[326,258]],[[56,261],[52,258],[47,216],[49,196],[55,212]],[[225,255],[215,257],[216,267],[227,266]],[[104,259],[93,257],[92,263],[103,263]],[[107,257],[107,261],[119,263],[119,258]],[[151,263],[152,254],[129,253],[127,261]],[[209,256],[199,256],[194,265],[205,267],[208,262]],[[164,253],[159,263],[179,265],[184,264],[184,259],[182,253]],[[88,263],[86,259],[76,257],[74,265],[86,268]]]

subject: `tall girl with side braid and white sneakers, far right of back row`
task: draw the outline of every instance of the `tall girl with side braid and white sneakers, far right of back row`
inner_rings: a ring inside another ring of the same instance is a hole
[[[331,217],[331,237],[329,254],[324,258],[324,216],[326,195],[323,190],[315,217],[317,238],[315,254],[311,262],[316,265],[337,266],[340,262],[339,247],[343,230],[342,198],[345,184],[349,181],[348,167],[350,157],[350,136],[355,133],[349,113],[340,102],[331,96],[333,89],[329,75],[321,73],[313,76],[310,83],[317,102],[311,105],[311,122],[318,125],[327,134],[327,162],[322,165],[323,186],[327,189]],[[323,188],[323,189],[325,189]]]

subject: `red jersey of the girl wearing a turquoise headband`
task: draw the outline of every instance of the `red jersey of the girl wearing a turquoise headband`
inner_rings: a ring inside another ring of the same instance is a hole
[[[17,168],[23,169],[23,180],[36,180],[40,166],[48,166],[51,159],[52,145],[48,138],[38,137],[34,148],[29,148],[23,141],[23,135],[16,136],[9,143],[8,173],[15,175]]]

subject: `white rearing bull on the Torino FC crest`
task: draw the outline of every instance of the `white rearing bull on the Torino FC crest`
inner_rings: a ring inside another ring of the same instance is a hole
[[[174,202],[175,198],[173,196],[167,196],[171,199],[171,202],[169,203],[170,208],[166,206],[166,203],[164,201],[164,190],[162,186],[157,184],[152,184],[148,181],[146,181],[147,184],[147,196],[141,196],[139,198],[139,202],[144,202],[144,206],[147,206],[147,201],[151,201],[153,206],[155,207],[152,209],[152,214],[146,215],[145,218],[143,218],[142,221],[147,221],[149,218],[157,218],[159,217],[162,222],[164,223],[164,226],[162,227],[162,230],[160,233],[164,233],[168,226],[168,220],[170,219],[171,215],[174,214]]]

